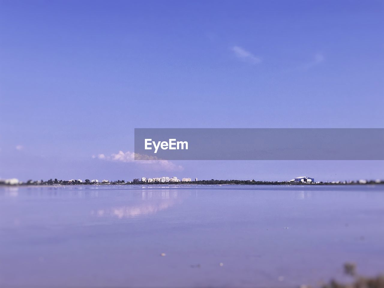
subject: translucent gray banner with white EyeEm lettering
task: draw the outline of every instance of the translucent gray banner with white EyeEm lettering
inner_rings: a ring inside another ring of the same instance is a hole
[[[136,128],[135,160],[384,160],[383,128]]]

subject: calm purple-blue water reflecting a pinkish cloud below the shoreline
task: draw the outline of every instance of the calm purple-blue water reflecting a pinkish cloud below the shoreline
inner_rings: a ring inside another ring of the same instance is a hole
[[[384,271],[383,185],[0,187],[0,286],[316,285],[346,261]]]

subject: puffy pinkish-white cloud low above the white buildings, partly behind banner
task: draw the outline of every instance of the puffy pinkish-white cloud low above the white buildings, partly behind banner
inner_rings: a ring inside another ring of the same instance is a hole
[[[156,156],[148,156],[142,154],[136,154],[134,152],[119,151],[117,154],[111,154],[111,156],[105,156],[104,154],[93,155],[94,159],[101,159],[105,161],[113,162],[125,162],[141,165],[142,167],[148,167],[152,170],[165,170],[165,171],[181,171],[184,168],[180,165],[176,165],[168,160],[158,159]]]

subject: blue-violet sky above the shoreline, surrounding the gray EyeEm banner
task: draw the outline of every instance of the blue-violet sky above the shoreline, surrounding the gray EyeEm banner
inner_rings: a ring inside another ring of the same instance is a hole
[[[384,178],[383,161],[110,160],[135,127],[384,127],[382,1],[0,5],[0,178]]]

